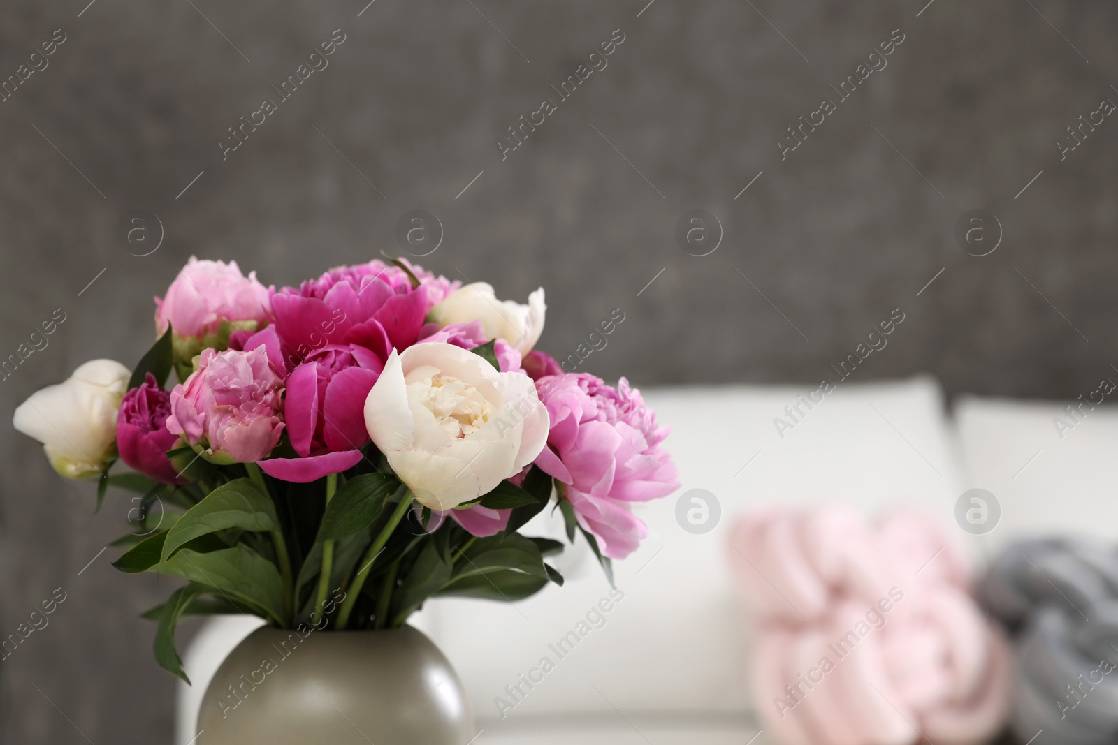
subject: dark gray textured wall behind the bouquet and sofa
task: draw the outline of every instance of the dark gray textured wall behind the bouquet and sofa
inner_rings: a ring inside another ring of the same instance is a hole
[[[1073,398],[1118,362],[1118,122],[1064,161],[1055,145],[1118,101],[1114,3],[86,2],[0,7],[0,76],[66,35],[0,103],[0,356],[67,314],[0,384],[4,412],[87,359],[132,364],[151,296],[190,254],[294,283],[399,252],[417,208],[445,228],[426,266],[503,297],[547,287],[543,348],[574,351],[623,308],[586,363],[605,378],[818,381],[896,307],[906,323],[860,378]],[[222,161],[226,127],[339,28],[329,67]],[[608,66],[502,161],[498,137],[618,28]],[[888,67],[781,161],[785,128],[898,28]],[[697,208],[724,229],[704,257],[673,237]],[[1004,228],[982,258],[953,238],[974,208]],[[143,258],[115,236],[134,209],[165,227]],[[32,442],[0,428],[0,636],[67,592],[0,662],[0,738],[167,742],[172,680],[135,614],[168,586],[107,553],[78,575],[125,497],[94,516],[92,488]]]

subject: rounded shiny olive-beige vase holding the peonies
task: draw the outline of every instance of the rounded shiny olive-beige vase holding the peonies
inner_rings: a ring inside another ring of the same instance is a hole
[[[421,632],[262,628],[226,658],[198,714],[205,745],[464,745],[454,668]]]

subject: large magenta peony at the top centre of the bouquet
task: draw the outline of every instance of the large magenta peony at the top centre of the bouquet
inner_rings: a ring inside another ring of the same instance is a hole
[[[457,283],[420,267],[413,273],[420,280],[415,289],[407,273],[375,259],[274,293],[272,314],[287,370],[328,344],[358,344],[381,360],[394,347],[415,344],[427,311]]]

